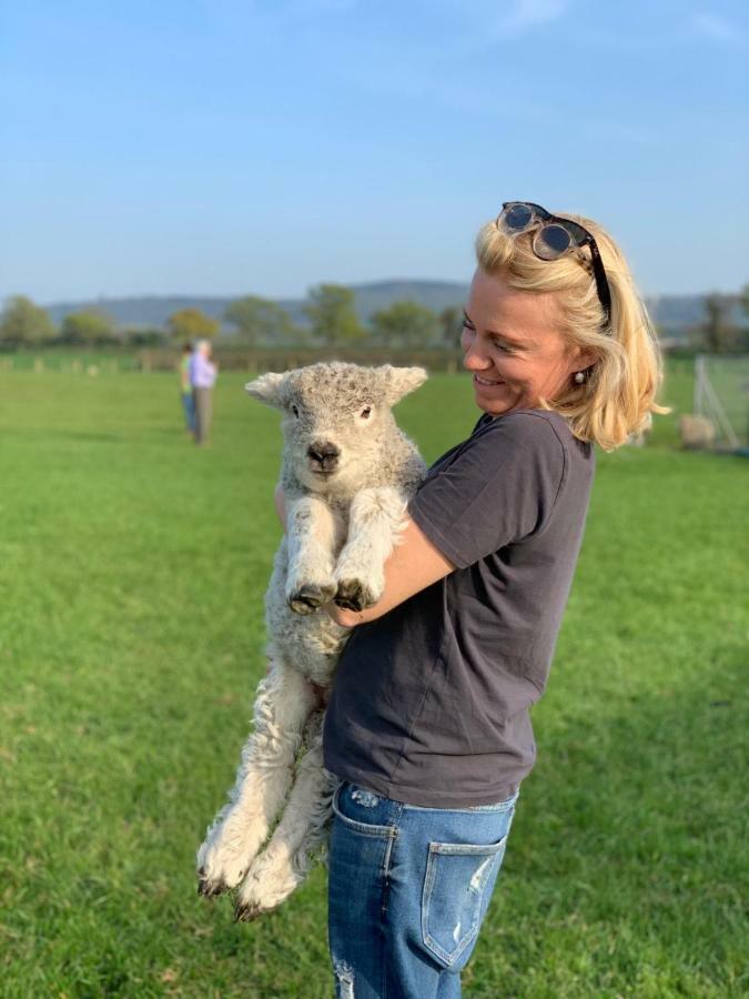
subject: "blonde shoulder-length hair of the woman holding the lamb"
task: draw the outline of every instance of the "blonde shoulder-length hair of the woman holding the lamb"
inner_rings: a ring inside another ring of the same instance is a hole
[[[647,430],[651,413],[670,412],[656,402],[662,381],[660,351],[627,261],[611,236],[590,219],[563,218],[584,225],[598,244],[611,291],[608,323],[587,248],[558,260],[540,260],[532,246],[535,230],[507,235],[496,222],[488,222],[476,238],[476,258],[483,271],[499,274],[510,287],[558,296],[563,336],[570,346],[591,352],[596,361],[581,384],[570,381],[540,406],[564,416],[580,441],[614,451]]]

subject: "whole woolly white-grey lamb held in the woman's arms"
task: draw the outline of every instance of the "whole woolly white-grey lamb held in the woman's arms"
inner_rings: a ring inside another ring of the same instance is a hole
[[[269,668],[253,731],[229,804],[198,852],[200,894],[239,888],[236,919],[281,905],[324,842],[333,777],[323,768],[322,723],[350,629],[320,608],[334,599],[362,609],[382,596],[385,561],[425,472],[391,406],[425,379],[421,367],[334,361],[246,385],[284,414],[287,524],[265,595]]]

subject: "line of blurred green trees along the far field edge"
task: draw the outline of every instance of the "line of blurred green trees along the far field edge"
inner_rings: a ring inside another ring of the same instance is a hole
[[[749,284],[739,301],[749,316]],[[705,320],[690,331],[694,345],[713,353],[748,350],[749,333],[731,320],[736,296],[718,293],[705,297]],[[361,322],[355,293],[340,284],[320,284],[310,291],[304,306],[307,325],[294,323],[276,302],[245,295],[231,302],[223,323],[242,346],[389,346],[394,349],[455,347],[460,331],[460,310],[449,306],[436,313],[417,302],[394,302]],[[160,346],[212,340],[222,320],[200,309],[181,309],[162,327],[119,329],[104,311],[91,309],[67,315],[55,326],[48,312],[26,295],[13,295],[0,313],[0,345],[40,346]]]

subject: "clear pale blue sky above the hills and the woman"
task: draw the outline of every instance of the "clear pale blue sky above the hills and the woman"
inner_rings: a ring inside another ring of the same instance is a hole
[[[0,296],[464,281],[523,198],[749,281],[743,0],[28,0],[0,73]]]

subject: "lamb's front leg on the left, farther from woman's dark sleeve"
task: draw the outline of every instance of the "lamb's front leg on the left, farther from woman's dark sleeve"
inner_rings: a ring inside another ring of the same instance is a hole
[[[311,614],[333,597],[333,567],[342,529],[343,525],[323,500],[303,496],[290,501],[286,601],[297,614]]]

